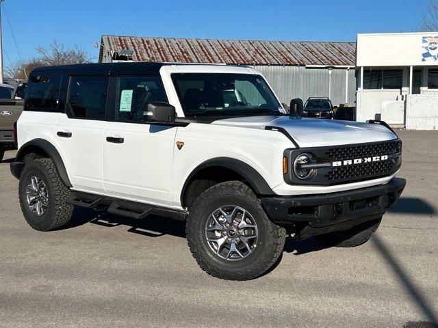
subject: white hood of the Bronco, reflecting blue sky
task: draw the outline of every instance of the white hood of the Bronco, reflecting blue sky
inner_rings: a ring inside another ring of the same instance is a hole
[[[363,122],[291,118],[289,116],[249,116],[227,118],[211,124],[260,128],[284,128],[300,148],[348,145],[396,139],[385,126]]]

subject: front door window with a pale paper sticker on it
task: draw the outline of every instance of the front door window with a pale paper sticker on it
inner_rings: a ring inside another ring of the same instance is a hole
[[[119,122],[142,122],[148,102],[168,102],[160,77],[118,77],[116,113]]]

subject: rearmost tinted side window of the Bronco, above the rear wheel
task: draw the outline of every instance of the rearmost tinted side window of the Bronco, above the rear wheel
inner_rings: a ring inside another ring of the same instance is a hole
[[[57,111],[62,77],[37,75],[29,79],[29,97],[26,109],[30,111]]]

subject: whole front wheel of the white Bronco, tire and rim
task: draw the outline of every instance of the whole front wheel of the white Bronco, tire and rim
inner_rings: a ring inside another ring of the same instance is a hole
[[[266,273],[285,244],[246,184],[229,181],[204,191],[186,223],[190,251],[201,269],[222,279],[248,280]]]

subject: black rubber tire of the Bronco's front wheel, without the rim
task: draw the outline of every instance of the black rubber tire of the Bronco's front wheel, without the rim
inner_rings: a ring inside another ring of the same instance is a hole
[[[248,210],[257,223],[255,249],[238,261],[224,260],[209,247],[205,238],[207,217],[216,208],[235,205]],[[272,223],[253,191],[240,181],[215,184],[194,201],[189,209],[185,232],[192,255],[209,275],[229,280],[248,280],[266,273],[279,259],[285,245],[286,231]]]

